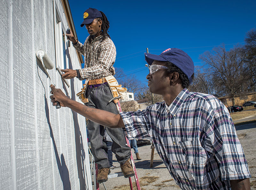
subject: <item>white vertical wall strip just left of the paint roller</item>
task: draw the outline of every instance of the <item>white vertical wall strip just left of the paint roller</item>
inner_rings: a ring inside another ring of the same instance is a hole
[[[36,53],[35,53],[35,31],[34,31],[34,2],[31,0],[31,29],[32,29],[32,60],[33,60],[33,84],[34,84],[34,114],[35,114],[35,139],[36,139],[36,172],[37,186],[41,189],[40,160],[38,148],[38,125],[37,125],[37,104],[36,104]]]

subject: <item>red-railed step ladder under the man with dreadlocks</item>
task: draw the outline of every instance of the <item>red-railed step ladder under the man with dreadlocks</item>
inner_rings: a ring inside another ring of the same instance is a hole
[[[116,107],[117,107],[118,112],[120,113],[122,110],[121,110],[121,106],[120,106],[119,101],[118,101],[118,103],[116,103]],[[130,147],[129,140],[126,137],[125,137],[125,140],[126,140],[127,145]],[[89,153],[91,155],[91,163],[90,163],[90,165],[91,165],[91,176],[93,175],[93,180],[92,180],[93,184],[92,185],[94,186],[94,190],[99,190],[100,186],[99,186],[99,183],[97,182],[98,165],[94,162],[94,157],[93,157],[92,152],[91,152],[89,147],[88,147],[88,149],[89,149]],[[136,171],[134,160],[133,160],[133,156],[132,156],[132,150],[131,150],[130,161],[131,161],[131,165],[132,165],[132,168],[133,168],[133,171],[134,171],[134,179],[135,179],[135,182],[136,182],[137,190],[140,190],[140,183],[139,183],[139,179],[138,179],[138,176],[137,176],[137,171]],[[115,167],[115,168],[118,168],[118,167]],[[116,177],[121,177],[121,176],[124,176],[122,171],[116,172],[116,173],[110,173],[108,175],[108,179],[116,178]],[[105,188],[105,190],[107,190],[107,188],[105,187],[104,183],[107,183],[107,182],[103,182],[102,183],[104,188]],[[129,184],[130,184],[130,189],[133,190],[131,177],[129,177]]]

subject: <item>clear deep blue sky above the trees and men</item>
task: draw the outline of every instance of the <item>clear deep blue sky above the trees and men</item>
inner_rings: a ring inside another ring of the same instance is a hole
[[[134,73],[142,82],[148,74],[144,52],[160,54],[180,48],[201,66],[199,55],[214,46],[244,44],[246,32],[256,27],[256,1],[69,1],[78,40],[89,35],[80,27],[89,7],[103,11],[116,45],[115,67]],[[130,75],[131,76],[131,75]]]

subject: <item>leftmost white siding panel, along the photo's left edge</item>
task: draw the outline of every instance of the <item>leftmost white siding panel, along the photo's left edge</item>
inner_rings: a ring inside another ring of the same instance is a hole
[[[12,166],[11,166],[11,126],[10,126],[10,75],[9,75],[9,49],[10,49],[10,27],[9,27],[9,11],[10,2],[0,2],[0,26],[3,27],[2,43],[0,43],[0,171],[4,175],[0,175],[1,189],[12,189]]]

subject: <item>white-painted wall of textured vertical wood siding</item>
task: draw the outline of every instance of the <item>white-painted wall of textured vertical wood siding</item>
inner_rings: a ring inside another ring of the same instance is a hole
[[[36,58],[43,49],[55,63],[55,4],[67,29],[58,0],[0,2],[0,189],[92,189],[85,118],[51,105],[50,80]],[[66,54],[68,67],[80,68],[72,45]],[[79,101],[82,81],[68,80],[68,87],[56,68],[48,73]]]

